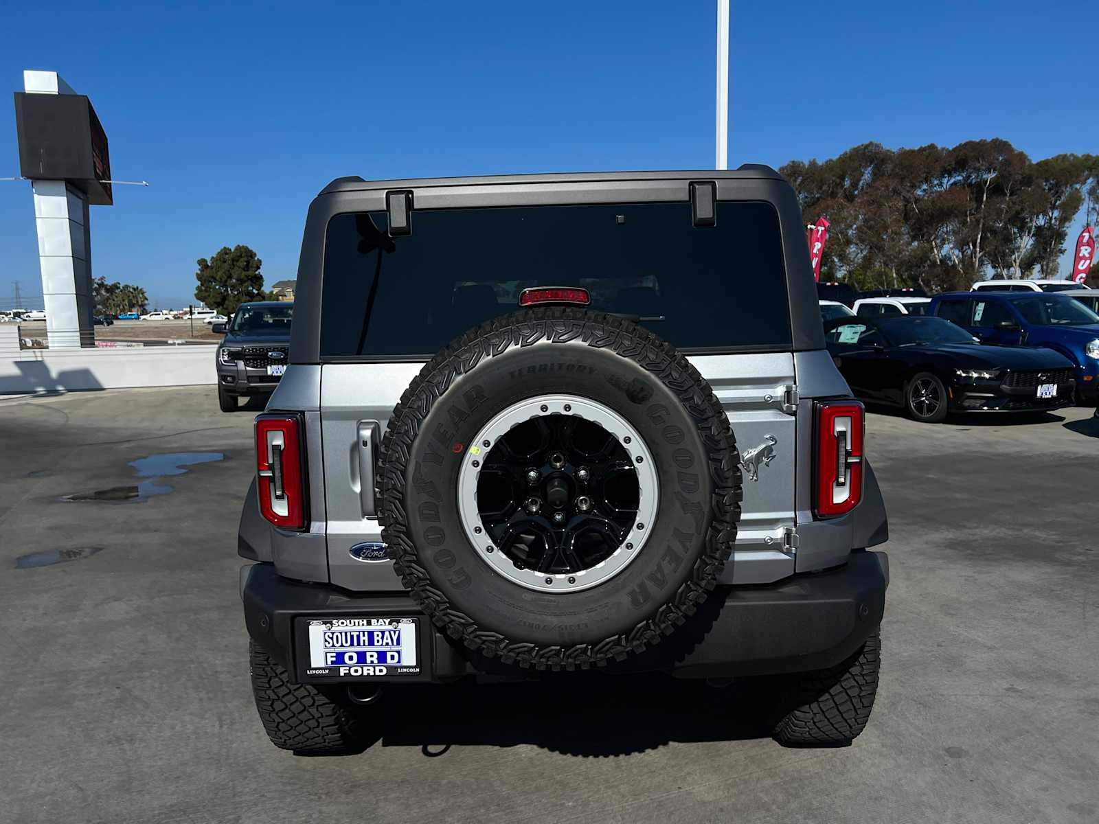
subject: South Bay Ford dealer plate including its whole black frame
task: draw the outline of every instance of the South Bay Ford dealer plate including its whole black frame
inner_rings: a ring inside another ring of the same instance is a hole
[[[320,615],[299,624],[302,680],[419,680],[425,671],[419,616]]]

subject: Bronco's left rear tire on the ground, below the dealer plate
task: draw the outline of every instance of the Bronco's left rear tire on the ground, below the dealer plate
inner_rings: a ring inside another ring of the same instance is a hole
[[[290,683],[282,665],[248,642],[252,693],[267,737],[296,755],[362,753],[371,743],[369,711],[349,705],[338,688]]]

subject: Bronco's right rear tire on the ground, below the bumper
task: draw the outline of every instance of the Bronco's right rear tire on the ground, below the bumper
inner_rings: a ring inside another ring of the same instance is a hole
[[[784,681],[779,705],[785,714],[775,725],[775,741],[788,747],[851,744],[870,719],[880,665],[881,636],[875,630],[842,664]]]

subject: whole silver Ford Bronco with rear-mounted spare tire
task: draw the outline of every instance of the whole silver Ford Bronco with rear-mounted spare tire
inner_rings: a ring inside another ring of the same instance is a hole
[[[773,169],[333,181],[255,432],[278,747],[363,749],[382,687],[576,670],[762,686],[782,744],[867,723],[886,513]]]

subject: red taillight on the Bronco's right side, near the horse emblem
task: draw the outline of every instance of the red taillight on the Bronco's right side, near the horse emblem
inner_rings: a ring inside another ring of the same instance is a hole
[[[817,517],[851,512],[863,500],[863,404],[817,404]]]

